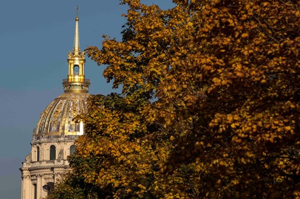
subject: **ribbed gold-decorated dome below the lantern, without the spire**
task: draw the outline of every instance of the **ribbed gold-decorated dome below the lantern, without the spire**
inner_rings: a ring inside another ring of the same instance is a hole
[[[64,93],[53,100],[41,112],[33,136],[43,135],[82,135],[83,123],[75,123],[72,119],[87,112],[87,93]]]

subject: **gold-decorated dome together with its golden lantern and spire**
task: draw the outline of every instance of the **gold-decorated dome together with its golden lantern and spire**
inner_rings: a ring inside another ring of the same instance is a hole
[[[78,11],[78,6],[76,7]],[[82,135],[83,123],[72,119],[87,112],[90,80],[85,78],[85,54],[79,47],[79,17],[75,19],[73,51],[68,53],[68,78],[63,80],[64,94],[53,100],[41,113],[33,136]]]

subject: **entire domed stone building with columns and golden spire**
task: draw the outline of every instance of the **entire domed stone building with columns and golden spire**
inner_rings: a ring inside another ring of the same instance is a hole
[[[78,10],[78,7],[77,7]],[[21,199],[45,198],[60,176],[68,170],[68,155],[74,153],[74,141],[84,132],[82,122],[72,119],[87,111],[90,80],[85,78],[85,54],[79,46],[79,17],[75,18],[74,47],[68,54],[68,78],[63,80],[64,94],[54,99],[41,113],[33,131],[31,152],[20,168]]]

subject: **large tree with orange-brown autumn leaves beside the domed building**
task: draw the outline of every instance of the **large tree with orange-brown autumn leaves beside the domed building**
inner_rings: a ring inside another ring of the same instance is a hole
[[[90,98],[52,198],[300,198],[299,0],[121,2],[86,52],[122,95]]]

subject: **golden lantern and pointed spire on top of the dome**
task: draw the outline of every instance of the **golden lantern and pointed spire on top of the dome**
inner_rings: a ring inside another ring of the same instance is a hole
[[[85,79],[84,64],[85,54],[80,51],[78,5],[76,6],[75,36],[73,51],[68,54],[69,73],[68,79],[63,80],[65,93],[88,93],[90,80]]]

